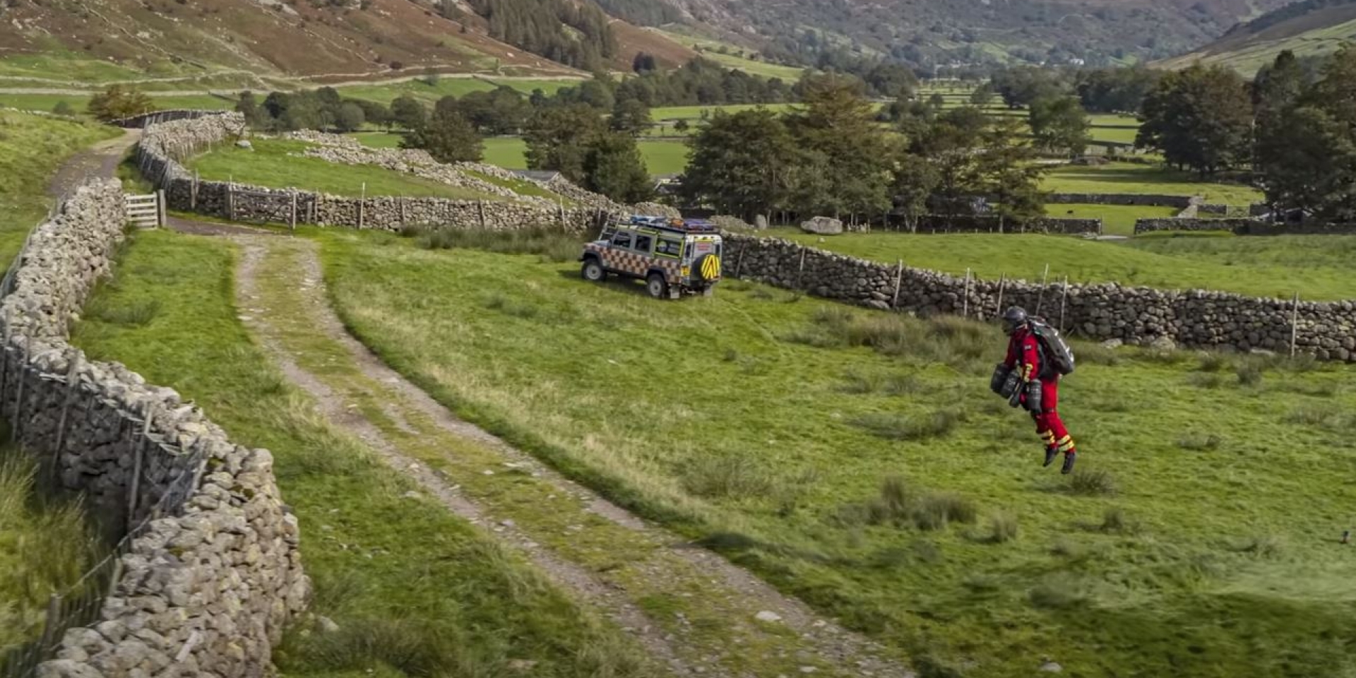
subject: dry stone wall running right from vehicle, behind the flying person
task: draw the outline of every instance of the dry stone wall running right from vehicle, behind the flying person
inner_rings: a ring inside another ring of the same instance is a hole
[[[738,278],[881,311],[994,319],[1001,306],[1041,313],[1073,335],[1192,348],[1288,351],[1356,362],[1356,301],[1300,302],[1238,294],[1106,285],[1040,286],[964,281],[921,268],[868,262],[786,240],[728,235],[727,271]],[[1002,302],[999,304],[999,296]],[[1063,309],[1060,312],[1060,309]],[[1292,323],[1294,320],[1294,323]]]

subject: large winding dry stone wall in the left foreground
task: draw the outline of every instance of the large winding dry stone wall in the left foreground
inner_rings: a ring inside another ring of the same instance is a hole
[[[125,222],[117,182],[79,188],[3,285],[0,411],[95,514],[137,526],[96,622],[66,631],[38,675],[264,675],[309,594],[273,457],[232,443],[172,389],[68,342]]]

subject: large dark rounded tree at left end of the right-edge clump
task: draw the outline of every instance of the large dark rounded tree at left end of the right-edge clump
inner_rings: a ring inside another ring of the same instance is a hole
[[[1135,145],[1157,148],[1169,164],[1201,176],[1252,155],[1252,100],[1242,77],[1223,66],[1192,65],[1165,75],[1140,111]]]

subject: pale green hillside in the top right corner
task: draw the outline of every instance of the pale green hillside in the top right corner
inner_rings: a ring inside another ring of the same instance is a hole
[[[1306,0],[1235,26],[1223,38],[1189,54],[1162,61],[1181,68],[1196,61],[1256,73],[1281,50],[1317,56],[1356,42],[1356,0]]]

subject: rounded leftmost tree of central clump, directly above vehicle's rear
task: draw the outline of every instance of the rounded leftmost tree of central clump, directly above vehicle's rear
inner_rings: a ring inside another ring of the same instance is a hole
[[[687,140],[682,194],[694,205],[753,220],[785,205],[796,140],[772,111],[717,111]]]

